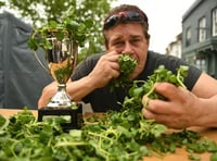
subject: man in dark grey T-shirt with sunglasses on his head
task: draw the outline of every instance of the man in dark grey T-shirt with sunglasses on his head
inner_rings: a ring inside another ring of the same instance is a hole
[[[75,101],[84,100],[92,104],[93,111],[119,110],[127,89],[116,88],[113,92],[108,83],[119,76],[118,55],[130,53],[138,61],[131,79],[146,79],[154,70],[164,64],[176,72],[180,65],[188,65],[178,58],[148,51],[150,44],[146,15],[135,5],[123,4],[114,8],[104,21],[103,35],[105,54],[95,54],[78,65],[67,91]],[[188,89],[168,83],[157,83],[155,91],[168,100],[149,100],[142,113],[168,127],[217,126],[217,81],[190,66],[184,84]],[[44,107],[56,91],[56,83],[47,86],[38,107]],[[148,98],[143,97],[142,101]]]

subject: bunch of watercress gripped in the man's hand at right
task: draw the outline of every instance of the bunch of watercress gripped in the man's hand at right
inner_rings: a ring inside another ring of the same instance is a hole
[[[149,76],[148,81],[133,81],[131,88],[129,89],[129,97],[125,98],[124,107],[139,107],[146,106],[148,101],[142,104],[141,99],[145,95],[152,99],[162,99],[166,98],[157,92],[155,92],[155,83],[170,83],[175,86],[181,86],[186,88],[183,81],[188,75],[188,66],[181,65],[177,69],[177,73],[165,69],[164,65],[159,65],[152,75]]]

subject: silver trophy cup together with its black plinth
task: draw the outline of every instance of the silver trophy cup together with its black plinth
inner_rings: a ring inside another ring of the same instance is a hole
[[[66,83],[76,66],[78,45],[67,33],[62,39],[58,39],[55,34],[52,32],[47,38],[51,45],[51,48],[44,50],[48,67],[44,67],[39,59],[37,60],[43,69],[49,69],[49,73],[58,82],[58,91],[46,107],[38,110],[38,121],[42,121],[46,115],[69,115],[71,122],[61,124],[64,131],[68,131],[80,127],[82,115],[81,104],[72,101],[66,92]]]

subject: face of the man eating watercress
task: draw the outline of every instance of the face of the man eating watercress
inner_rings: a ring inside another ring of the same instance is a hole
[[[139,23],[119,24],[106,33],[107,51],[130,53],[138,61],[132,78],[137,77],[144,67],[149,48],[143,28]]]

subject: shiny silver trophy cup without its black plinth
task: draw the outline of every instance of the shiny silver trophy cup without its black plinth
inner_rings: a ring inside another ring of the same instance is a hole
[[[77,51],[73,50],[73,42],[67,36],[62,40],[56,37],[48,38],[52,49],[47,50],[47,62],[52,77],[59,83],[58,92],[51,98],[46,108],[68,109],[76,106],[66,92],[66,83],[76,65]]]

